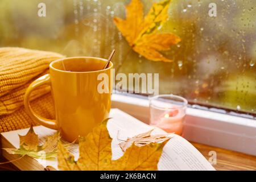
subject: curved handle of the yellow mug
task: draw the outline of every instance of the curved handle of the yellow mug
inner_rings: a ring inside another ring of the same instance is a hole
[[[46,126],[53,130],[58,130],[56,120],[40,117],[40,115],[36,114],[31,109],[30,100],[29,100],[30,94],[31,94],[32,90],[34,90],[38,86],[42,86],[42,85],[51,85],[51,77],[49,76],[49,74],[39,77],[38,79],[33,81],[30,84],[30,86],[28,86],[25,96],[24,96],[25,109],[26,109],[28,115],[30,115],[30,117],[32,119],[34,119],[34,121],[38,122],[40,125]]]

